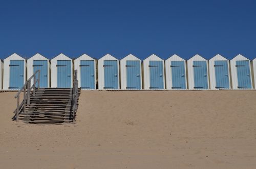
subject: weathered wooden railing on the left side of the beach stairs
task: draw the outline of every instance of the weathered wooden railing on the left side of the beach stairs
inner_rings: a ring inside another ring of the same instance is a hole
[[[36,78],[37,74],[37,78]],[[31,79],[33,78],[33,85],[31,86]],[[33,89],[33,95],[35,95],[35,88],[36,88],[36,83],[37,83],[37,88],[39,88],[40,84],[40,70],[36,70],[36,72],[26,81],[24,86],[17,92],[15,95],[15,99],[17,98],[17,108],[14,111],[16,113],[16,122],[18,122],[18,115],[19,115],[19,109],[23,107],[23,111],[26,112],[26,100],[27,104],[30,104],[30,95],[31,95],[31,90]],[[23,91],[23,101],[22,103],[19,104],[19,94]]]

